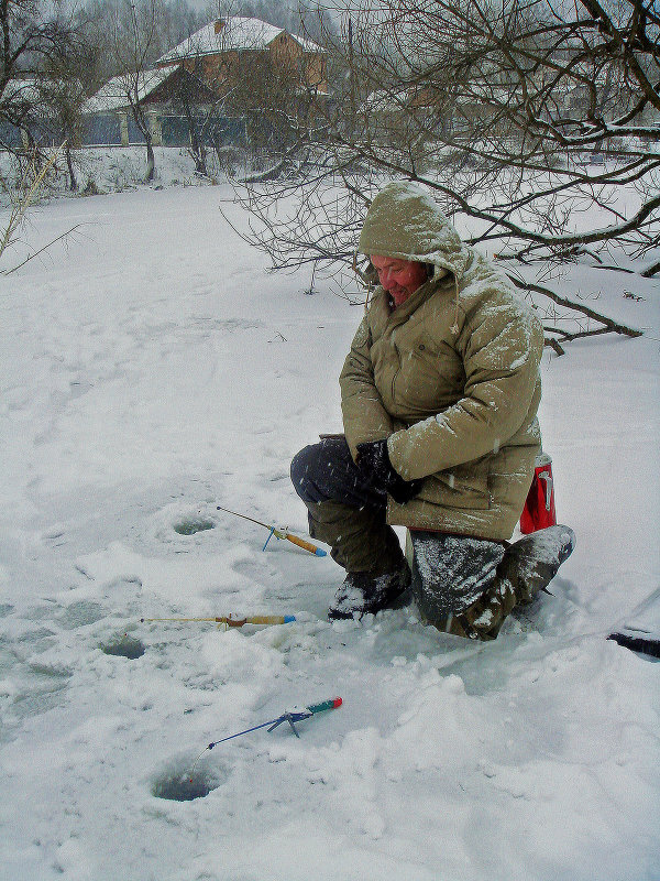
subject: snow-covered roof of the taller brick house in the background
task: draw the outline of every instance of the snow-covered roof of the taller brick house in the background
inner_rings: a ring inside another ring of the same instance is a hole
[[[219,29],[217,29],[218,22],[207,24],[158,58],[157,64],[167,64],[191,56],[215,55],[231,50],[265,50],[280,34],[288,34],[305,52],[324,51],[311,40],[289,34],[284,28],[276,28],[261,19],[230,15],[222,21],[223,24]]]

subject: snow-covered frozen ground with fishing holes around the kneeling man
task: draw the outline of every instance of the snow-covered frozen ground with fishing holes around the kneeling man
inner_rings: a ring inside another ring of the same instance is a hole
[[[288,463],[341,429],[361,309],[268,275],[231,195],[53,202],[4,259],[78,225],[0,279],[0,878],[660,878],[660,666],[605,639],[660,584],[658,283],[560,284],[646,335],[543,358],[554,596],[479,648],[330,624],[330,557],[217,505],[306,534]],[[298,620],[140,621],[262,612]]]

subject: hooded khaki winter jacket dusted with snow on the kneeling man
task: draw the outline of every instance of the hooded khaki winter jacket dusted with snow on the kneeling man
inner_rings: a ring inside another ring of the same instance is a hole
[[[539,320],[411,184],[375,197],[360,252],[433,270],[397,308],[377,287],[358,328],[340,377],[353,457],[387,437],[398,474],[426,478],[407,504],[388,497],[389,523],[509,539],[540,450]]]

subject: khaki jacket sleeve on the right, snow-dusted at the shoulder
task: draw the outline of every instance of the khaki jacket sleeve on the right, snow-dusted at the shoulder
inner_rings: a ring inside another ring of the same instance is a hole
[[[457,348],[466,377],[463,396],[388,439],[392,465],[405,480],[496,453],[528,415],[543,350],[543,330],[534,314],[515,301],[502,304],[493,297],[468,316]]]

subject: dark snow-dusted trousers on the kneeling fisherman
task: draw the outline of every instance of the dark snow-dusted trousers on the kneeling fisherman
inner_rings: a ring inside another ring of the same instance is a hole
[[[385,519],[387,496],[365,481],[343,437],[301,449],[290,475],[309,512],[309,534],[329,544],[346,570],[380,575],[404,564]],[[497,578],[504,544],[442,532],[411,531],[411,537],[413,590],[422,617],[460,635],[496,633],[515,603],[510,586]]]

